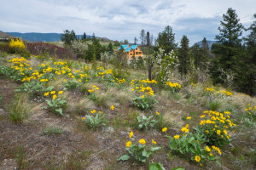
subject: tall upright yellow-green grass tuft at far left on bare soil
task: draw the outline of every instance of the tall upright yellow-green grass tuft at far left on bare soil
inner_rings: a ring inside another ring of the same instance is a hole
[[[23,122],[29,117],[31,105],[26,94],[17,94],[9,109],[9,118],[12,122]]]

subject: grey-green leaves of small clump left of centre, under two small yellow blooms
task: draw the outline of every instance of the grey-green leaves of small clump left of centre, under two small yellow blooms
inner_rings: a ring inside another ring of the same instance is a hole
[[[105,126],[106,122],[108,122],[108,120],[102,113],[96,113],[96,116],[90,116],[90,115],[85,115],[85,116],[86,116],[85,124],[87,125],[87,127],[91,128],[93,131],[96,131],[97,127]]]

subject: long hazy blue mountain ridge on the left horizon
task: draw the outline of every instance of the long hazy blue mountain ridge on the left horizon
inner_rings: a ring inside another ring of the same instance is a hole
[[[61,41],[61,33],[36,33],[36,32],[28,32],[28,33],[20,33],[20,32],[6,32],[9,35],[15,37],[21,37],[22,39],[32,41],[32,42],[60,42]],[[77,35],[77,37],[81,38],[83,35]],[[87,35],[86,37],[92,37]]]

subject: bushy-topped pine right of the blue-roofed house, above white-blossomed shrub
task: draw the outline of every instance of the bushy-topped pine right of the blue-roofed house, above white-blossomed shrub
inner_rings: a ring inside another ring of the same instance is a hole
[[[175,43],[175,34],[172,33],[172,27],[166,26],[165,31],[159,33],[157,42],[160,48],[165,50],[165,53],[168,54],[177,47]]]

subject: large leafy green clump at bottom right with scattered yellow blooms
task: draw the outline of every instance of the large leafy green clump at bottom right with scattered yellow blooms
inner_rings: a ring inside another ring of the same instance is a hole
[[[203,134],[187,133],[181,136],[181,138],[179,135],[174,137],[167,136],[167,138],[170,139],[169,147],[171,150],[175,150],[183,156],[190,156],[192,161],[198,163],[205,163],[207,161],[218,162],[219,157],[212,153],[214,151],[221,154],[220,150],[215,146],[212,146],[212,149],[207,145],[204,147],[206,140]]]

